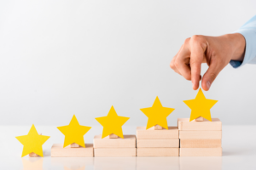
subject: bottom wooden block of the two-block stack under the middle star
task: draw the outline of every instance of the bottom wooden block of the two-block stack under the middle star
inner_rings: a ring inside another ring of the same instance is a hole
[[[95,157],[136,156],[136,148],[95,148]]]

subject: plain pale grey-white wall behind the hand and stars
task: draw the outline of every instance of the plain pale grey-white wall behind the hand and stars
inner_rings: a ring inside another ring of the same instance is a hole
[[[73,114],[99,125],[111,105],[125,125],[146,125],[139,110],[156,96],[189,117],[191,82],[169,67],[187,37],[236,31],[255,13],[251,0],[0,1],[0,124],[58,125]],[[207,65],[203,65],[202,74]],[[225,124],[256,124],[256,65],[228,65],[207,99]]]

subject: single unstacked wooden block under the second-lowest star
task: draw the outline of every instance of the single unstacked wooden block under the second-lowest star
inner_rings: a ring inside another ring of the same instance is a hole
[[[53,144],[51,147],[52,157],[93,157],[93,144],[85,144],[85,148],[63,148],[63,144]]]

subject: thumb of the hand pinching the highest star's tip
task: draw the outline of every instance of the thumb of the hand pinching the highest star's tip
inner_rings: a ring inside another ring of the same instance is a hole
[[[211,61],[211,64],[209,65],[209,68],[201,81],[201,87],[205,91],[208,91],[211,88],[212,82],[215,80],[215,78],[218,76],[218,73],[222,69],[223,67],[218,65],[218,62],[216,60]]]

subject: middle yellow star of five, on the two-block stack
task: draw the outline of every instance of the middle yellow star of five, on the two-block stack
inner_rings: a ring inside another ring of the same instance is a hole
[[[96,121],[103,127],[102,139],[114,133],[124,139],[122,126],[128,121],[129,117],[118,116],[111,106],[108,116],[96,117]]]

